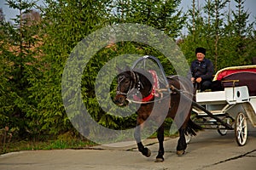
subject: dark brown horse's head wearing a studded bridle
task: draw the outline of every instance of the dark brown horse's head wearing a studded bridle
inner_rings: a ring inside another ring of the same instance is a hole
[[[127,97],[129,92],[135,86],[136,75],[134,71],[121,72],[118,75],[118,85],[114,102],[117,105],[127,104]]]

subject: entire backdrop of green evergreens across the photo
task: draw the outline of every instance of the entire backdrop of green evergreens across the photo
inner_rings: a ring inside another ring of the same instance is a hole
[[[195,8],[193,1],[186,15],[178,9],[180,0],[45,0],[39,17],[35,2],[8,0],[9,7],[20,14],[12,24],[3,20],[0,10],[0,128],[9,127],[14,139],[36,141],[49,135],[61,138],[67,133],[79,137],[62,104],[62,72],[78,42],[105,26],[138,23],[152,26],[173,40],[179,37],[177,44],[189,62],[195,59],[196,47],[205,47],[216,71],[231,65],[250,65],[256,56],[255,22],[248,23],[244,1],[234,1],[236,8],[228,13],[224,7],[230,1],[206,0],[202,8]],[[184,26],[188,35],[180,36]],[[102,66],[124,54],[154,55],[167,75],[175,74],[163,54],[143,43],[111,42],[98,51],[83,72],[83,101],[96,122],[113,129],[134,127],[136,114],[120,117],[113,111],[103,111],[96,99],[95,83]],[[105,74],[108,76],[108,72]],[[115,86],[113,80],[112,97]],[[102,92],[103,88],[98,90]],[[169,126],[171,122],[166,123]],[[66,146],[60,141],[53,145]]]

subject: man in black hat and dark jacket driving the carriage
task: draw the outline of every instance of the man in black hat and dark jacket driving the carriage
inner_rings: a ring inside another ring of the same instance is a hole
[[[201,89],[201,91],[211,88],[212,75],[214,73],[212,61],[205,58],[206,54],[206,48],[196,48],[196,59],[191,63],[190,67],[191,81],[198,83],[200,86],[197,88]]]

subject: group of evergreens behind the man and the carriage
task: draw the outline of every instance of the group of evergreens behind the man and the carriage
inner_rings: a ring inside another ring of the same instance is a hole
[[[255,22],[248,22],[248,12],[244,10],[244,1],[235,0],[236,8],[225,12],[224,7],[230,1],[206,0],[204,14],[199,9],[189,9],[187,36],[178,40],[183,54],[189,62],[195,59],[195,48],[207,48],[207,58],[211,59],[218,71],[227,66],[251,65],[255,55]],[[193,11],[195,11],[193,13]],[[191,24],[192,20],[193,24]]]

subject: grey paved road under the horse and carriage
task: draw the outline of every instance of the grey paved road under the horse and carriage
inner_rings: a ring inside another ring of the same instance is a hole
[[[198,133],[184,156],[176,155],[177,139],[166,139],[165,161],[154,162],[158,144],[144,141],[152,151],[142,156],[135,145],[125,148],[97,146],[88,150],[20,151],[0,156],[1,170],[255,170],[256,128],[250,129],[247,144],[239,147],[233,131],[220,136],[216,131]],[[132,142],[133,144],[134,142]]]

